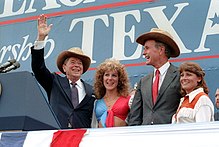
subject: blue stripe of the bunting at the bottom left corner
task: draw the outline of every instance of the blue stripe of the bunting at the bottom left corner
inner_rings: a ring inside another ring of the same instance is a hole
[[[2,133],[0,147],[23,147],[27,132]]]

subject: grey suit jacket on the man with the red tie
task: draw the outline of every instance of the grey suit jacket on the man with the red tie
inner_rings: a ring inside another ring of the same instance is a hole
[[[153,74],[143,77],[137,87],[128,116],[128,125],[150,125],[171,123],[181,94],[178,68],[170,64],[160,87],[157,100],[152,102]]]

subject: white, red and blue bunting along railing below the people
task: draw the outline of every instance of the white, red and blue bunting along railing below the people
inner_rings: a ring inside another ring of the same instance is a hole
[[[0,132],[0,146],[218,147],[218,136],[218,122],[165,124],[87,130]]]

